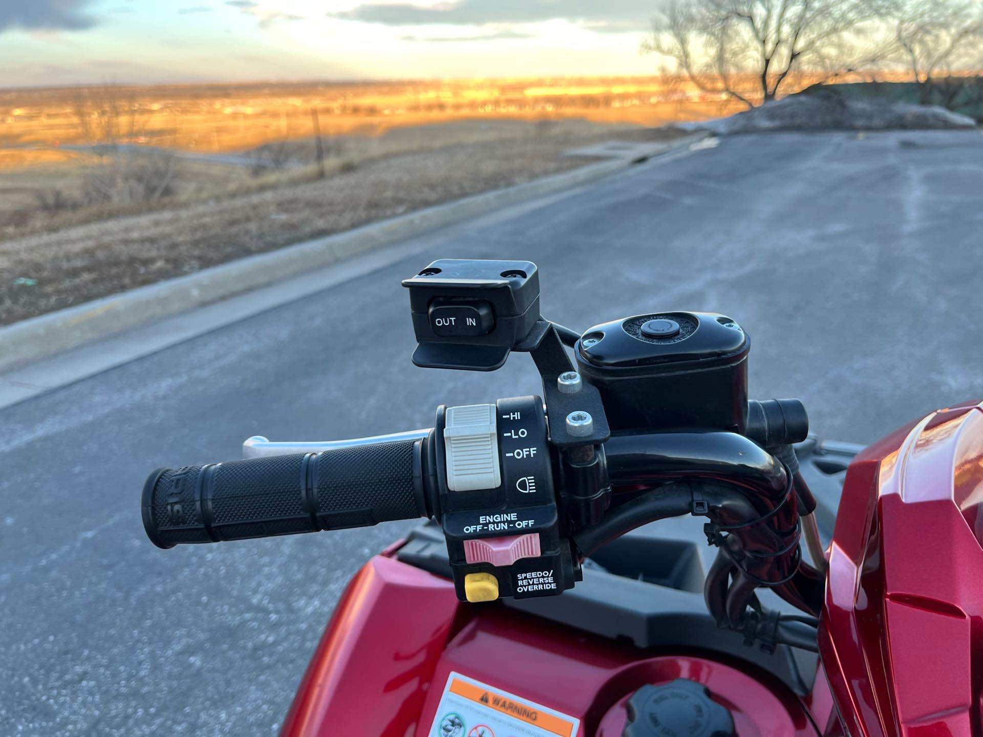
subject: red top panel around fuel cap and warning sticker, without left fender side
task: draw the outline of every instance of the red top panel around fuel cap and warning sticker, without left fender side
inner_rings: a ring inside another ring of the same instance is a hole
[[[742,672],[726,658],[696,653],[652,656],[501,606],[486,607],[448,644],[434,673],[416,737],[432,737],[440,690],[451,671],[521,695],[581,720],[579,735],[619,737],[625,702],[647,683],[689,678],[730,709],[741,737],[816,735],[791,692]],[[776,686],[773,690],[772,686]]]

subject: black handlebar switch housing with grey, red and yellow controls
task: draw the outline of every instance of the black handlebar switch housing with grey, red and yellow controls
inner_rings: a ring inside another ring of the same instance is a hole
[[[580,566],[559,531],[543,400],[441,407],[436,424],[440,524],[457,597],[572,588]]]

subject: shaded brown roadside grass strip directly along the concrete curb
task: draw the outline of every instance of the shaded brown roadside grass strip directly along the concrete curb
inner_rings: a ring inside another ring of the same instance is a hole
[[[412,129],[402,129],[405,144],[381,137],[384,152],[365,143],[358,164],[324,178],[310,166],[256,179],[233,171],[225,189],[209,196],[99,217],[95,208],[51,212],[8,228],[0,239],[0,324],[595,161],[565,155],[570,148],[682,135],[584,121],[559,122],[549,132],[521,121],[449,125],[446,135],[445,126],[430,130],[440,144],[417,140]],[[260,186],[270,178],[275,184]]]

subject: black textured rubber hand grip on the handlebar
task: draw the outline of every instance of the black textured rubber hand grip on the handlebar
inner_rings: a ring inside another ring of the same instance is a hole
[[[159,469],[146,480],[143,507],[158,547],[426,517],[421,441]]]

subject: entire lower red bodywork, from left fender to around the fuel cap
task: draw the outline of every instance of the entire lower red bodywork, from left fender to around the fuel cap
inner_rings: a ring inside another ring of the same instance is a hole
[[[500,604],[459,606],[449,581],[384,556],[339,601],[281,733],[430,737],[452,670],[580,718],[580,737],[616,737],[636,689],[680,677],[705,684],[741,737],[817,735],[799,699],[746,663],[654,656]]]

